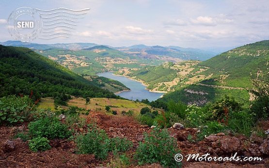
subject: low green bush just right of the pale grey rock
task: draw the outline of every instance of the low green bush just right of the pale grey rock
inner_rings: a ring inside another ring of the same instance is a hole
[[[201,128],[201,132],[197,135],[197,140],[203,140],[206,136],[217,134],[224,131],[225,127],[219,122],[208,122],[206,126]]]

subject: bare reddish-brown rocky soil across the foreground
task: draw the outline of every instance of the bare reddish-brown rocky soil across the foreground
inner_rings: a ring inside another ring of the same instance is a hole
[[[134,143],[128,151],[132,157],[139,141],[143,140],[143,133],[150,132],[151,128],[140,125],[131,117],[107,116],[103,113],[91,113],[87,116],[88,123],[97,124],[99,128],[106,130],[109,137],[126,137]],[[19,125],[20,126],[20,125]],[[76,146],[73,141],[55,139],[50,142],[52,148],[45,152],[33,153],[29,150],[27,142],[21,139],[12,139],[17,129],[27,129],[27,123],[22,127],[0,127],[0,168],[95,168],[106,167],[112,159],[112,153],[105,161],[95,159],[94,155],[76,154]],[[264,124],[269,128],[269,123]],[[78,128],[84,131],[85,128]],[[184,168],[269,168],[269,138],[263,140],[252,137],[248,140],[244,136],[232,136],[219,133],[210,135],[200,142],[191,142],[188,136],[196,138],[198,129],[169,128],[171,136],[177,139],[178,148],[183,156],[187,154],[210,153],[210,156],[228,156],[237,152],[238,156],[259,156],[263,160],[259,162],[194,162],[183,160]],[[174,158],[171,158],[174,159]],[[130,167],[136,167],[131,165]],[[141,168],[161,168],[158,164],[142,166]]]

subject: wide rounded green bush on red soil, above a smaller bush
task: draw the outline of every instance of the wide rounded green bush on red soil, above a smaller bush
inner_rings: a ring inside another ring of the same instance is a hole
[[[56,117],[45,117],[28,125],[32,137],[66,138],[71,136],[67,126]]]

